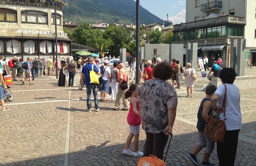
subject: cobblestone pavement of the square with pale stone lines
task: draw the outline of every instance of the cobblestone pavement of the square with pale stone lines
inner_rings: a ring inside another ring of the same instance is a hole
[[[255,75],[256,68],[245,69]],[[34,85],[14,82],[10,111],[0,111],[0,165],[136,165],[139,158],[122,154],[129,127],[127,111],[113,111],[114,103],[100,102],[100,111],[85,112],[86,91],[58,87],[55,76],[36,77]],[[188,159],[198,140],[197,109],[207,80],[198,77],[193,98],[177,89],[178,109],[167,165],[193,165]],[[245,83],[246,86],[246,83]],[[241,90],[243,128],[235,165],[256,165],[255,89]],[[93,102],[92,102],[93,104]],[[141,130],[139,150],[145,133]],[[130,147],[133,150],[133,144]],[[203,160],[203,151],[198,154]],[[218,164],[217,154],[211,161]]]

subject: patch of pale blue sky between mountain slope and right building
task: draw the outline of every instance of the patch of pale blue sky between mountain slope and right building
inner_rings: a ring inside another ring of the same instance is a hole
[[[186,22],[186,0],[140,0],[140,5],[160,19],[166,20],[168,14],[174,24]]]

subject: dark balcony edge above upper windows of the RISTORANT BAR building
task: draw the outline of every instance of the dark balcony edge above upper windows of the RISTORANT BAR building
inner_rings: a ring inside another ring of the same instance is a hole
[[[38,8],[53,8],[50,6],[50,0],[0,0],[1,5],[19,5],[19,6],[35,6]],[[56,9],[63,11],[63,6],[60,2]]]

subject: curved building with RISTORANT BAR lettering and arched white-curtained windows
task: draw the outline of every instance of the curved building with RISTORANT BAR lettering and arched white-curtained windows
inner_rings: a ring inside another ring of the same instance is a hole
[[[63,32],[63,2],[55,9],[49,0],[1,0],[0,56],[40,58],[55,55],[55,35],[58,37],[58,56],[68,56],[71,40]]]

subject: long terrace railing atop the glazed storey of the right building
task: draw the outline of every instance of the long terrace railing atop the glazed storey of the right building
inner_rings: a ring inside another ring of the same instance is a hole
[[[223,25],[225,23],[235,23],[235,24],[245,25],[245,18],[244,16],[225,15],[225,16],[218,16],[216,18],[203,19],[200,21],[181,23],[181,24],[173,25],[173,32],[179,32],[180,29],[181,31],[184,31],[186,29],[203,28],[203,27],[212,26],[212,25],[218,26],[218,25]]]

